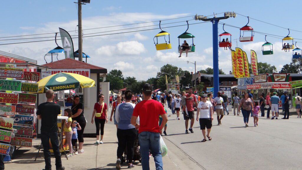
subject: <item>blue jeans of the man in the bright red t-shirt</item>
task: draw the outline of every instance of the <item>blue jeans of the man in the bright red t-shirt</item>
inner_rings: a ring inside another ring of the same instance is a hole
[[[150,170],[149,167],[149,149],[151,149],[156,170],[162,170],[162,155],[160,153],[160,134],[156,132],[140,132],[138,134],[140,142],[140,154],[142,155],[143,170]]]

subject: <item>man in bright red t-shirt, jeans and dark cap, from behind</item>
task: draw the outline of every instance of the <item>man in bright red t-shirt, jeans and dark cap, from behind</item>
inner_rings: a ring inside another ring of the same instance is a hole
[[[140,142],[140,153],[142,156],[142,168],[149,168],[149,149],[152,151],[156,169],[163,169],[162,155],[160,153],[160,133],[168,121],[167,114],[162,105],[152,100],[153,87],[146,83],[143,86],[144,100],[135,105],[131,117],[131,124],[138,128],[138,139]],[[162,124],[158,125],[159,115],[162,116]],[[136,123],[140,116],[140,123]]]

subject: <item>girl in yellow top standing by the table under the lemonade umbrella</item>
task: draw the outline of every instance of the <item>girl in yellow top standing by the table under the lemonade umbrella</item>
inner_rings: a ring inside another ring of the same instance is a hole
[[[65,109],[64,116],[68,116],[68,119],[65,119],[64,128],[63,128],[63,130],[65,132],[65,136],[66,136],[66,143],[69,146],[69,154],[67,155],[67,157],[72,157],[72,143],[71,143],[72,129],[70,127],[71,122],[72,122],[71,109]]]

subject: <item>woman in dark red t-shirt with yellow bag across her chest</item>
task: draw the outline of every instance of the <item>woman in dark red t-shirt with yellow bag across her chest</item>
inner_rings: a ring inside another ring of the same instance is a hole
[[[107,104],[104,103],[104,95],[101,93],[98,95],[99,101],[95,103],[91,123],[93,124],[93,118],[95,120],[96,127],[96,139],[95,144],[103,143],[103,135],[104,135],[104,125],[108,122],[107,116]],[[100,130],[101,130],[101,140],[100,139]]]

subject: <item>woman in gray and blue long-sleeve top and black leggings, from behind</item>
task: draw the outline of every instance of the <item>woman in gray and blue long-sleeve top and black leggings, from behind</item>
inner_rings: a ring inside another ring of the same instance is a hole
[[[121,158],[124,153],[124,150],[127,145],[127,159],[128,159],[128,168],[133,168],[132,164],[133,159],[133,147],[134,141],[137,137],[137,128],[130,123],[131,116],[133,113],[133,109],[135,104],[131,103],[131,90],[127,90],[125,92],[125,103],[121,103],[117,106],[115,110],[115,119],[118,123],[117,125],[117,139],[118,139],[118,147],[117,147],[117,161],[116,168],[120,169]],[[140,123],[139,118],[137,118],[137,123]]]

